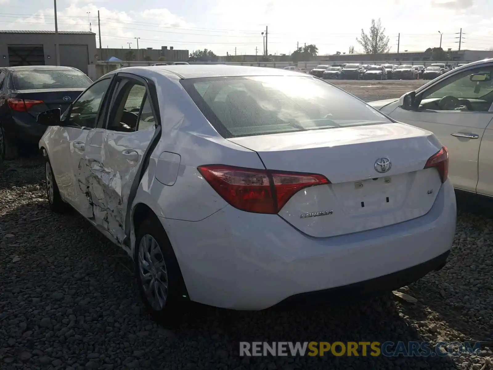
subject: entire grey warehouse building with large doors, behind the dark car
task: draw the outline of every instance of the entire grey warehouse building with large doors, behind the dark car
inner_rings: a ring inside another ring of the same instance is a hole
[[[56,66],[55,31],[0,31],[0,67]],[[75,67],[87,74],[96,63],[96,34],[59,31],[60,65]]]

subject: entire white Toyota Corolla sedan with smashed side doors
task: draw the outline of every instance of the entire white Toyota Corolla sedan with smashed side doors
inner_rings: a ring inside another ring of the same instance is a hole
[[[50,207],[127,251],[155,317],[390,291],[451,249],[447,149],[319,78],[130,67],[60,113],[38,116]]]

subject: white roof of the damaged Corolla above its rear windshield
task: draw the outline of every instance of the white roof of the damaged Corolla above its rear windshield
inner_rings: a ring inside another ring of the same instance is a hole
[[[207,64],[192,64],[187,66],[152,66],[152,67],[127,67],[112,71],[122,73],[133,71],[152,71],[169,76],[170,72],[182,79],[201,77],[235,77],[235,76],[307,76],[307,74],[285,70],[283,68],[249,67],[249,66],[220,66]]]

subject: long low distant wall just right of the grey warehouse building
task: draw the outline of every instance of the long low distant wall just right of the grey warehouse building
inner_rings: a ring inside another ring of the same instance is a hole
[[[99,49],[98,48],[98,59],[100,61],[106,61],[111,57],[116,57],[121,60],[127,59],[127,53],[131,50],[134,54],[135,61],[144,61],[146,56],[149,56],[151,60],[159,61],[160,57],[164,57],[165,61],[172,62],[186,62],[189,58],[188,50],[177,50],[177,49]]]

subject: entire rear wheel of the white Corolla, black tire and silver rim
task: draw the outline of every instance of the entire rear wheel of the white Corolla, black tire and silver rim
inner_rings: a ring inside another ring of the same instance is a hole
[[[185,283],[168,236],[155,217],[143,221],[136,231],[134,265],[147,311],[160,324],[176,324],[183,313]]]

